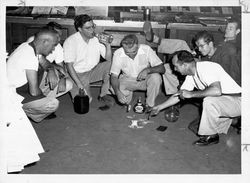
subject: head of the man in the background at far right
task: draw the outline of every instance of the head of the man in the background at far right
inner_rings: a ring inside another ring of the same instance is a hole
[[[240,33],[241,25],[238,20],[230,19],[227,23],[225,30],[225,41],[235,40],[236,36]]]

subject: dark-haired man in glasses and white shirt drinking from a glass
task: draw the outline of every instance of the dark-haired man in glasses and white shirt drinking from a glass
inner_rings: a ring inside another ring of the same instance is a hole
[[[107,94],[110,88],[111,45],[106,41],[99,42],[95,37],[95,24],[90,16],[76,16],[74,26],[77,32],[69,36],[63,44],[64,60],[74,82],[70,91],[72,98],[78,94],[79,89],[85,89],[91,102],[89,84],[103,81],[98,99],[110,107],[112,98]],[[99,63],[100,56],[106,61]]]

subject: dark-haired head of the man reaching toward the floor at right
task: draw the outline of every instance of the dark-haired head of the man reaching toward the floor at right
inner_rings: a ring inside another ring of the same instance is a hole
[[[172,64],[174,70],[179,72],[181,75],[192,75],[195,65],[193,55],[186,51],[180,50],[173,53]]]

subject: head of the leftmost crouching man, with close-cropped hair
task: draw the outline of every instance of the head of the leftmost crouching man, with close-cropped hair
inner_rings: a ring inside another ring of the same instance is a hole
[[[34,39],[37,54],[49,55],[59,42],[58,32],[55,30],[41,29]]]

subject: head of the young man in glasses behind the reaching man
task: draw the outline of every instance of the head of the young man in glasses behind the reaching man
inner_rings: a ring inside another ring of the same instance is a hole
[[[200,31],[196,34],[195,44],[203,56],[214,54],[214,37],[207,31]]]

